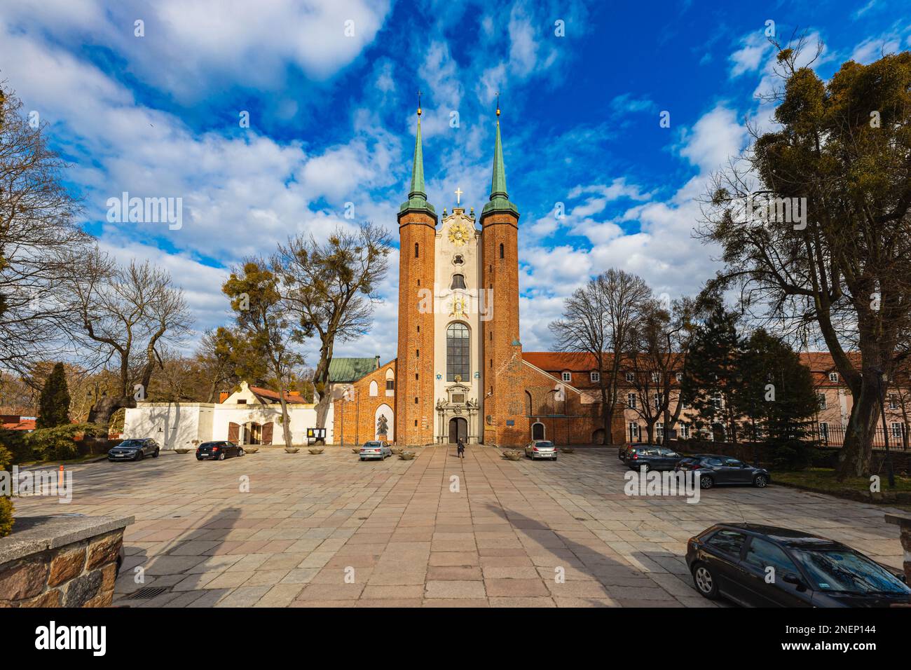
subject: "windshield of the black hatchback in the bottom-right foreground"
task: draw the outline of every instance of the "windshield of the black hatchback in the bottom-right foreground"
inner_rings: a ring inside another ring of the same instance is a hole
[[[911,593],[891,572],[855,551],[793,550],[814,589],[843,593]]]

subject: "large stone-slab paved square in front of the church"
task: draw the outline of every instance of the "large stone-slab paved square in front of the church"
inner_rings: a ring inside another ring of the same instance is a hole
[[[73,471],[71,504],[25,498],[16,510],[135,515],[115,596],[130,607],[713,606],[682,557],[718,521],[816,531],[902,560],[885,508],[776,486],[703,491],[697,504],[630,498],[615,448],[556,462],[480,446],[466,459],[446,446],[383,462],[338,447],[163,454]],[[167,590],[130,598],[144,586]]]

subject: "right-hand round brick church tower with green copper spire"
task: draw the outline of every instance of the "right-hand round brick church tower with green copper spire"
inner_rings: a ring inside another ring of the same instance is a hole
[[[490,201],[481,211],[481,286],[486,289],[484,321],[484,442],[519,445],[527,441],[528,419],[522,378],[518,321],[518,210],[507,195],[496,106],[496,144]]]

